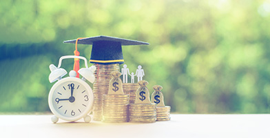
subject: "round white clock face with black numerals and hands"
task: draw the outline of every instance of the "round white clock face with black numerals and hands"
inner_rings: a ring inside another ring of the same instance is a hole
[[[54,115],[67,121],[75,121],[90,113],[93,94],[90,86],[76,77],[56,82],[49,94],[49,106]]]

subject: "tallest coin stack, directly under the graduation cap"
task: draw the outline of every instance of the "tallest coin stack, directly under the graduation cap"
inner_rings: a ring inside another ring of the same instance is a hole
[[[94,108],[93,115],[95,121],[101,121],[102,119],[102,99],[103,95],[107,95],[109,82],[112,79],[110,73],[112,71],[118,71],[119,64],[110,64],[110,65],[102,65],[98,63],[94,63],[96,66],[96,70],[94,75],[96,77],[93,85],[93,93],[94,93]]]

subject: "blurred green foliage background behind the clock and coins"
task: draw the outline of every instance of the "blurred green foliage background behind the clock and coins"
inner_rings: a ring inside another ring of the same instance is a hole
[[[270,112],[269,0],[7,0],[0,16],[0,113],[50,112],[48,66],[74,55],[63,41],[98,35],[150,43],[123,46],[125,63],[172,112]]]

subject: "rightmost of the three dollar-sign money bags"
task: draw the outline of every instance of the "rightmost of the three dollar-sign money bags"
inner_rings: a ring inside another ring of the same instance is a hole
[[[156,103],[156,106],[158,106],[158,107],[165,106],[163,93],[160,91],[163,89],[163,87],[156,85],[153,88],[155,91],[151,95],[151,102]]]

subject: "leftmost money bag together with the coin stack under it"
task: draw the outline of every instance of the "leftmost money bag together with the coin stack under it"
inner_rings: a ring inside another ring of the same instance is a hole
[[[129,95],[123,92],[122,80],[119,78],[121,72],[111,72],[112,79],[109,83],[107,95],[103,95],[102,120],[110,123],[120,123],[128,121]]]

